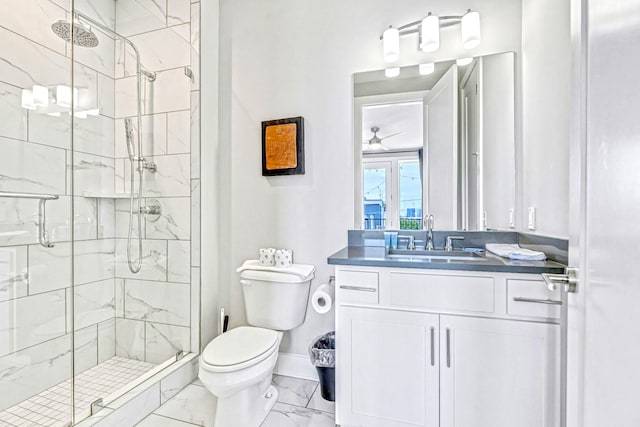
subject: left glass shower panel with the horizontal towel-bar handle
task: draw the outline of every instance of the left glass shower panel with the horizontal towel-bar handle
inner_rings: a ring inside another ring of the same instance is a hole
[[[0,424],[72,418],[70,2],[0,2]]]

